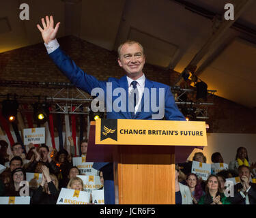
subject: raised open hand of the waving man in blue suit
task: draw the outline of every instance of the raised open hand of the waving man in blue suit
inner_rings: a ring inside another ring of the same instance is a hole
[[[50,19],[48,16],[46,16],[45,19],[46,19],[46,23],[44,22],[44,18],[41,19],[42,26],[44,27],[44,29],[42,29],[42,27],[40,27],[40,25],[37,25],[37,27],[42,34],[42,38],[43,38],[44,42],[46,44],[48,44],[48,42],[55,40],[57,31],[59,29],[59,25],[61,22],[58,22],[56,27],[54,28],[53,16],[50,16]]]

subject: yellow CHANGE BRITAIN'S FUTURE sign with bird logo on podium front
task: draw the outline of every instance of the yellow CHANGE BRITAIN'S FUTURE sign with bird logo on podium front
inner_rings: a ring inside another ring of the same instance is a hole
[[[207,136],[204,121],[97,119],[95,143],[207,146]]]

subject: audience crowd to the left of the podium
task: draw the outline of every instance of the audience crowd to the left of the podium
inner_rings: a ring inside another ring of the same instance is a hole
[[[86,191],[83,180],[78,177],[79,168],[73,166],[74,143],[71,137],[69,140],[70,153],[66,149],[50,151],[45,144],[29,144],[29,151],[25,153],[17,142],[12,146],[12,155],[7,154],[8,143],[0,140],[0,164],[6,167],[0,174],[0,196],[20,196],[23,188],[20,183],[26,181],[26,172],[42,174],[39,185],[36,178],[29,181],[30,204],[56,204],[61,188]],[[81,141],[80,149],[81,157],[86,159],[87,140]],[[102,172],[98,171],[98,176],[103,185]]]

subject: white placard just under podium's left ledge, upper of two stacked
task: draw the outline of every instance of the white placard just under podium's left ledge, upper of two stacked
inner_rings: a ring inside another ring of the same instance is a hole
[[[98,170],[92,168],[94,162],[86,162],[85,157],[73,157],[73,166],[79,168],[79,174],[98,176]]]

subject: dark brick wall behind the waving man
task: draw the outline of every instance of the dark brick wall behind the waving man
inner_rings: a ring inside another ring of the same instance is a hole
[[[96,76],[99,80],[108,77],[120,78],[124,70],[117,63],[115,52],[80,40],[74,36],[62,37],[59,40],[61,48],[74,62],[87,73]],[[150,80],[173,84],[177,73],[160,69],[149,64],[144,72]],[[35,44],[0,54],[1,80],[22,80],[40,82],[69,82],[59,72],[46,54],[44,44]],[[17,93],[18,95],[47,95],[52,96],[56,90],[33,88],[0,87],[2,95]],[[214,106],[209,106],[210,132],[225,133],[256,133],[255,110],[245,108],[221,97],[214,97]]]

